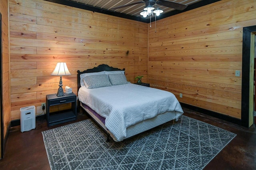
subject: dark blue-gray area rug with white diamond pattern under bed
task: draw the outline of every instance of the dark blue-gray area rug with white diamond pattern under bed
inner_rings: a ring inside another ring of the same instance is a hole
[[[42,134],[52,170],[202,170],[236,136],[183,115],[122,142],[90,119]]]

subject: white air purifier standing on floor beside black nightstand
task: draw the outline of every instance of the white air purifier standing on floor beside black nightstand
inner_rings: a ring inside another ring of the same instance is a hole
[[[28,106],[20,108],[20,131],[29,131],[36,128],[36,108]]]

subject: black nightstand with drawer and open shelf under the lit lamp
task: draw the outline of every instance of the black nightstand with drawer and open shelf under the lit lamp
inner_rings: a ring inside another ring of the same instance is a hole
[[[71,103],[71,109],[50,113],[50,107]],[[46,95],[46,120],[48,127],[76,120],[76,94],[66,94],[58,97],[56,94]]]

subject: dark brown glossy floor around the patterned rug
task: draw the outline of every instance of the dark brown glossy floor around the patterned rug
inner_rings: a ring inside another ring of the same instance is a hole
[[[237,136],[204,170],[255,170],[256,169],[256,128],[241,127],[233,123],[183,108],[184,115],[223,128]],[[88,119],[82,112],[77,121]],[[10,128],[4,158],[0,160],[0,170],[50,170],[44,147],[42,131],[63,126],[75,121],[47,127],[46,120],[37,121],[36,129],[20,132],[20,126]]]

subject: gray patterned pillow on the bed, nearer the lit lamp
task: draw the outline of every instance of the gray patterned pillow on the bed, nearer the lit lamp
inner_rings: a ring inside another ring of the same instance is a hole
[[[88,75],[84,77],[84,85],[88,89],[95,89],[99,87],[111,86],[111,83],[108,79],[108,75],[99,74],[99,75]]]

